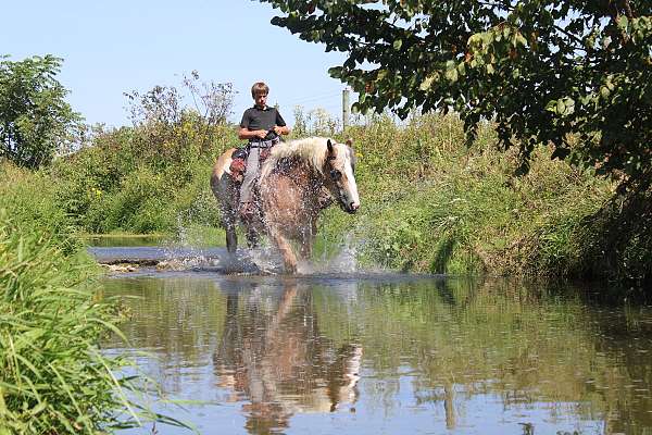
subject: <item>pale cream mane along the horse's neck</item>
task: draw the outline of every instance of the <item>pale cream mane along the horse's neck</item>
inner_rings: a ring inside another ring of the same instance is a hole
[[[330,139],[333,145],[335,140]],[[281,142],[272,148],[272,153],[263,163],[260,179],[265,178],[284,159],[297,158],[304,161],[314,170],[322,172],[324,161],[326,160],[327,137],[308,137],[305,139],[296,139]]]

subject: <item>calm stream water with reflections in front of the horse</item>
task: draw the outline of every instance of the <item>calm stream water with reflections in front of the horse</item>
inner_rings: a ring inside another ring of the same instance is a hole
[[[192,401],[154,409],[202,433],[652,433],[651,307],[350,269],[226,275],[216,256],[104,281],[130,313],[106,352],[146,351],[165,397]]]

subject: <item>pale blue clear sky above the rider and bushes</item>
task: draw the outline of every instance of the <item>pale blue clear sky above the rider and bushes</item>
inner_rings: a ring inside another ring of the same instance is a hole
[[[275,12],[251,0],[8,1],[0,54],[63,58],[59,80],[91,124],[129,124],[123,92],[180,86],[192,70],[203,80],[234,84],[234,122],[251,105],[258,80],[269,85],[268,101],[289,124],[298,104],[339,116],[343,85],[327,70],[343,54],[273,26]]]

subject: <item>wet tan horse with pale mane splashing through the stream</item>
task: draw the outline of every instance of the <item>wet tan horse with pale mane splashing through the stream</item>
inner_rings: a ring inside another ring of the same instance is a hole
[[[326,188],[342,210],[355,213],[360,207],[351,142],[337,144],[325,137],[281,142],[263,163],[254,192],[256,211],[243,222],[250,245],[266,234],[283,254],[287,273],[297,272],[296,241],[303,258],[310,258],[322,210],[321,195]],[[231,154],[223,153],[213,167],[211,188],[222,212],[229,252],[237,247],[239,184],[230,174]]]

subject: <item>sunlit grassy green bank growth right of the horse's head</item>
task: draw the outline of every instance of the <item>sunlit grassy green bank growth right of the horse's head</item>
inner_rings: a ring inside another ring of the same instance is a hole
[[[611,184],[537,151],[530,172],[496,150],[493,125],[471,148],[454,115],[414,116],[399,126],[383,116],[351,127],[362,208],[328,212],[323,234],[352,237],[363,260],[404,271],[582,276],[593,271],[589,219]],[[639,246],[636,240],[630,246]],[[622,264],[618,257],[615,264]]]

